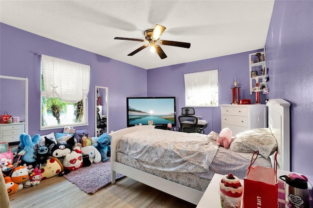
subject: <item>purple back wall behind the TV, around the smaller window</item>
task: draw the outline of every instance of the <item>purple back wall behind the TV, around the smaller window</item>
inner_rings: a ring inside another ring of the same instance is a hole
[[[260,50],[150,69],[147,75],[148,96],[175,96],[178,118],[181,108],[185,106],[183,74],[218,69],[219,104],[231,103],[231,87],[234,87],[235,78],[237,86],[241,87],[240,99],[250,99],[251,103],[255,103],[255,93],[249,93],[249,54],[258,51]],[[262,104],[265,104],[265,99],[266,96],[260,94]],[[208,121],[206,133],[221,131],[220,107],[195,107],[195,112]]]

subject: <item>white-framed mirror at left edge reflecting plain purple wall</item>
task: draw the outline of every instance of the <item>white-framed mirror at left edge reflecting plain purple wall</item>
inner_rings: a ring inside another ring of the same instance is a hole
[[[0,114],[19,117],[28,134],[28,79],[0,75]]]

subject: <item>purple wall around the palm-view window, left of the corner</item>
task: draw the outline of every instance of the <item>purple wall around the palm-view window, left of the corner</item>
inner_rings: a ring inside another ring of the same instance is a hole
[[[40,57],[45,54],[91,65],[88,94],[90,136],[94,136],[95,85],[109,87],[109,131],[125,128],[126,97],[147,95],[147,71],[88,51],[0,23],[0,74],[28,78],[28,108],[30,135],[63,132],[63,129],[40,131]],[[68,75],[70,79],[70,75]],[[8,89],[9,90],[9,89]],[[16,93],[16,92],[15,92]],[[12,112],[11,114],[14,114]]]

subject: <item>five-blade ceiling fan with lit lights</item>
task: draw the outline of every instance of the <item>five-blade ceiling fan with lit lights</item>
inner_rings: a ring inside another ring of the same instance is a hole
[[[141,46],[140,48],[134,50],[132,53],[128,54],[128,56],[133,56],[134,54],[138,53],[142,49],[145,49],[149,45],[154,47],[156,50],[156,53],[159,55],[161,59],[165,59],[167,56],[160,47],[160,45],[171,45],[171,46],[177,46],[177,47],[182,47],[182,48],[190,48],[190,43],[189,42],[177,42],[177,41],[158,41],[160,39],[161,34],[164,32],[166,27],[156,24],[154,29],[147,29],[143,32],[145,36],[145,40],[142,39],[135,39],[135,38],[120,38],[120,37],[115,37],[114,39],[116,40],[126,40],[126,41],[139,41],[139,42],[148,42],[148,44],[145,44]],[[158,44],[156,44],[158,43]]]

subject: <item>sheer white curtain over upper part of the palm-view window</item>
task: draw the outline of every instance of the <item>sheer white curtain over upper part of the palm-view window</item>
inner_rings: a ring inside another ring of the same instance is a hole
[[[68,103],[86,99],[89,92],[90,66],[42,55],[45,98],[57,97]]]

